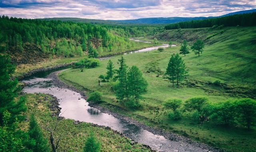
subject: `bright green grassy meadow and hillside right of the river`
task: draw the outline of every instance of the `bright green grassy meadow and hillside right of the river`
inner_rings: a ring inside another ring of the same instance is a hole
[[[185,30],[189,31],[189,29]],[[210,32],[206,29],[202,29],[206,33],[200,31],[200,29],[195,30],[206,36],[210,35]],[[137,111],[126,109],[117,103],[114,93],[110,91],[110,86],[107,83],[102,83],[101,86],[98,86],[97,78],[100,74],[106,73],[108,60],[101,61],[100,67],[86,69],[84,72],[80,72],[78,69],[66,70],[60,74],[60,78],[64,82],[80,89],[87,88],[103,92],[105,102],[101,104],[102,106],[143,121],[147,125],[180,134],[184,134],[184,131],[186,131],[185,135],[190,136],[190,138],[234,152],[256,150],[255,130],[246,132],[244,129],[223,128],[210,123],[198,125],[191,119],[190,113],[185,113],[184,115],[187,117],[184,117],[181,121],[171,121],[168,120],[167,111],[162,110],[162,103],[167,98],[185,100],[196,95],[206,95],[209,97],[210,102],[213,103],[230,98],[229,94],[223,93],[224,90],[222,88],[197,82],[213,82],[218,79],[228,85],[241,86],[244,84],[247,87],[253,87],[253,83],[256,80],[254,75],[256,73],[256,64],[254,62],[256,56],[253,51],[256,49],[256,45],[252,45],[254,43],[255,28],[226,28],[225,30],[222,35],[212,37],[207,41],[202,56],[197,57],[194,53],[190,53],[186,57],[182,57],[189,70],[188,83],[195,82],[198,87],[183,85],[180,88],[172,88],[166,79],[156,77],[155,73],[146,72],[148,63],[152,61],[158,62],[161,70],[165,71],[170,55],[178,53],[179,46],[166,49],[162,53],[151,51],[124,56],[127,65],[138,66],[144,72],[144,76],[149,83],[148,92],[143,95],[144,99],[141,101],[143,108]],[[168,32],[172,33],[173,31]],[[177,40],[174,39],[173,41]],[[118,67],[116,64],[118,58],[120,57],[111,58],[116,68]],[[126,110],[122,110],[119,107]],[[160,113],[156,112],[157,108],[160,108]]]

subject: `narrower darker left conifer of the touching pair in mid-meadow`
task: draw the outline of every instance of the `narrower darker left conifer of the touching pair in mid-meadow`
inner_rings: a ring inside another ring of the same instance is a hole
[[[176,60],[174,54],[171,56],[168,67],[166,69],[167,78],[172,81],[172,87],[174,87],[174,80],[176,80]]]

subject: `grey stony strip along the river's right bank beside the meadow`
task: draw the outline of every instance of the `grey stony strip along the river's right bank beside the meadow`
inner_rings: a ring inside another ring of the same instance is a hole
[[[58,79],[58,73],[62,72],[62,70],[60,71],[56,71],[56,72],[52,72],[48,77],[52,78],[52,83],[54,84],[54,86],[58,86],[59,88],[68,88],[70,90],[73,90],[75,92],[79,92],[82,97],[84,99],[86,99],[86,94],[76,88],[74,88],[73,86],[67,86],[66,84],[64,84],[64,82],[60,81]],[[136,121],[134,119],[131,119],[129,117],[125,117],[123,115],[120,115],[118,113],[115,113],[109,109],[106,109],[106,108],[103,108],[103,107],[100,107],[98,105],[92,105],[90,104],[91,107],[94,107],[96,109],[99,109],[101,112],[103,113],[108,113],[110,115],[113,115],[114,117],[116,117],[117,119],[121,119],[121,120],[124,120],[130,124],[134,124],[138,127],[141,127],[142,129],[145,129],[153,134],[158,134],[158,135],[161,135],[161,136],[164,136],[165,138],[169,139],[169,140],[173,140],[173,141],[181,141],[181,142],[185,142],[185,143],[188,143],[188,144],[191,144],[193,145],[194,147],[200,147],[202,149],[205,149],[205,150],[208,150],[209,152],[224,152],[223,150],[219,150],[217,148],[213,148],[212,146],[208,146],[206,144],[203,144],[203,143],[200,143],[200,142],[196,142],[194,140],[191,140],[187,137],[184,137],[184,136],[180,136],[178,134],[174,134],[174,133],[170,133],[170,132],[167,132],[167,131],[163,131],[161,129],[156,129],[156,128],[153,128],[153,127],[149,127],[139,121]],[[122,133],[120,133],[122,134]],[[123,135],[123,134],[122,134]]]

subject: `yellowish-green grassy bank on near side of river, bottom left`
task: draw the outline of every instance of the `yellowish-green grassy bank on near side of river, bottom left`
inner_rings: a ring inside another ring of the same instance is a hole
[[[26,96],[28,106],[28,111],[25,113],[26,117],[29,119],[30,115],[34,114],[44,136],[49,138],[50,135],[44,127],[53,128],[56,123],[56,117],[51,116],[52,112],[48,108],[49,101],[53,98],[46,94],[27,94]],[[28,121],[22,122],[20,127],[28,129],[28,124]],[[58,151],[63,152],[66,149],[69,152],[82,152],[84,141],[90,131],[93,131],[96,138],[101,141],[102,152],[150,152],[149,149],[140,144],[131,144],[128,138],[122,137],[112,130],[93,127],[90,123],[74,125],[74,120],[70,119],[62,119],[54,133],[55,137],[62,136]]]

